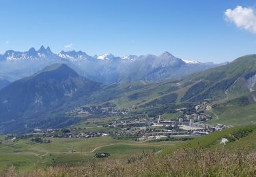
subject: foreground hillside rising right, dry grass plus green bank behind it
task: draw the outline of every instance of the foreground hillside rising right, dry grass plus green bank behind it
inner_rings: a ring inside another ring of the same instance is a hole
[[[221,138],[232,142],[220,144]],[[106,159],[78,166],[57,165],[26,174],[9,167],[6,176],[255,176],[256,126],[233,127],[176,144],[160,153]],[[119,146],[119,150],[122,146]],[[120,152],[122,152],[120,150]]]

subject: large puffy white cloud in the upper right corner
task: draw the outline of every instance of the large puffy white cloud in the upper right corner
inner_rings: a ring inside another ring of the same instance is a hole
[[[237,6],[233,10],[226,10],[225,17],[237,27],[256,33],[256,16],[253,8]]]

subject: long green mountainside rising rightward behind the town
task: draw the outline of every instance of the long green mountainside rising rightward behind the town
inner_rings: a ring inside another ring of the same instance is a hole
[[[93,97],[111,100],[120,107],[144,105],[155,99],[165,99],[171,93],[177,93],[173,103],[199,102],[203,99],[233,99],[248,95],[246,80],[254,76],[256,55],[240,57],[229,65],[208,69],[199,74],[187,76],[181,80],[166,80],[158,83],[131,82],[107,86]],[[106,94],[107,93],[107,94]],[[159,103],[161,104],[161,103]]]

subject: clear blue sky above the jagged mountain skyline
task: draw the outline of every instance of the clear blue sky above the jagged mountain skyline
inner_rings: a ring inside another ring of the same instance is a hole
[[[256,1],[0,0],[0,52],[44,45],[53,52],[169,51],[182,59],[232,61],[256,53],[255,31],[225,20],[238,5],[254,10]]]

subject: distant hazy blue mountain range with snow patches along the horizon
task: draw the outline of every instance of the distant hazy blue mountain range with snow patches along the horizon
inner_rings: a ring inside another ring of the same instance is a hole
[[[18,80],[31,76],[54,63],[65,63],[79,75],[104,84],[136,80],[156,82],[167,78],[181,78],[227,64],[182,60],[169,52],[159,56],[147,54],[126,57],[115,57],[111,53],[92,57],[85,52],[75,50],[55,54],[49,47],[41,46],[39,50],[35,48],[30,48],[26,52],[8,50],[0,54],[0,78],[10,81]]]

